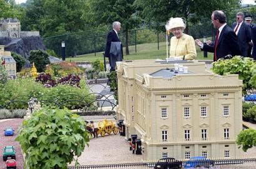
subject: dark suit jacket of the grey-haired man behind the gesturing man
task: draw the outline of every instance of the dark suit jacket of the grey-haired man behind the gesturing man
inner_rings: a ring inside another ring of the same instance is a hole
[[[232,25],[232,29],[234,30],[236,26],[237,26],[237,23],[235,22]],[[237,38],[238,38],[239,47],[240,47],[242,56],[248,57],[249,56],[248,51],[250,47],[249,42],[252,39],[250,36],[250,26],[245,24],[245,22],[241,24],[239,32],[237,33]]]

